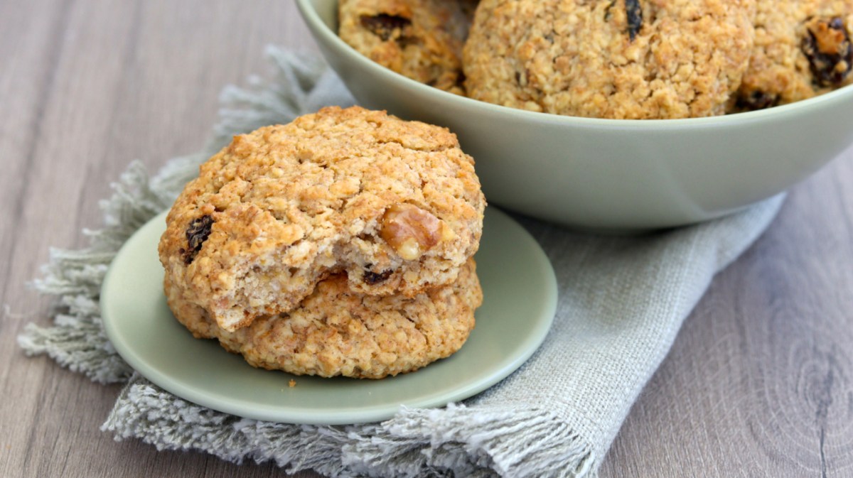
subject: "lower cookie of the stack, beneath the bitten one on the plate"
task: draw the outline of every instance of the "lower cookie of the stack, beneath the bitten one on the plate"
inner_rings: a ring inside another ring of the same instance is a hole
[[[455,353],[483,301],[473,259],[450,285],[415,297],[365,296],[333,274],[286,314],[260,317],[226,331],[203,308],[183,299],[167,278],[169,307],[198,338],[218,338],[249,364],[321,377],[381,378],[415,371]]]

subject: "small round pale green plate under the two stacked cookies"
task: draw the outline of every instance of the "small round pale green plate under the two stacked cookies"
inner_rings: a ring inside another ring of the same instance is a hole
[[[477,272],[485,296],[467,343],[448,359],[381,380],[297,377],[252,368],[212,340],[198,340],[172,317],[163,295],[157,243],[165,215],[121,248],[101,291],[107,336],[142,376],[220,412],[282,423],[365,423],[400,406],[442,406],[507,377],[543,342],[554,320],[554,269],[536,240],[488,208]],[[287,386],[290,379],[296,386]]]

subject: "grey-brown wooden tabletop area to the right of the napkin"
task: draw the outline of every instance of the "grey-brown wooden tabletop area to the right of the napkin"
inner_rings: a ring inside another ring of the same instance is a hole
[[[718,275],[602,477],[853,475],[851,158],[795,187]]]

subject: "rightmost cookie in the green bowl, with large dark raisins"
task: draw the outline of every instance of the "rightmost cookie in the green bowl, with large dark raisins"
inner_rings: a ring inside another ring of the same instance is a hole
[[[758,0],[755,47],[732,111],[804,100],[853,83],[853,0]]]

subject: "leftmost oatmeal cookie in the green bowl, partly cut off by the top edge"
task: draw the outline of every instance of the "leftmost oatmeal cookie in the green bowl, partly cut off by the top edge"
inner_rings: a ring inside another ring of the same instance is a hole
[[[338,34],[362,55],[463,94],[461,52],[476,0],[340,0]]]

